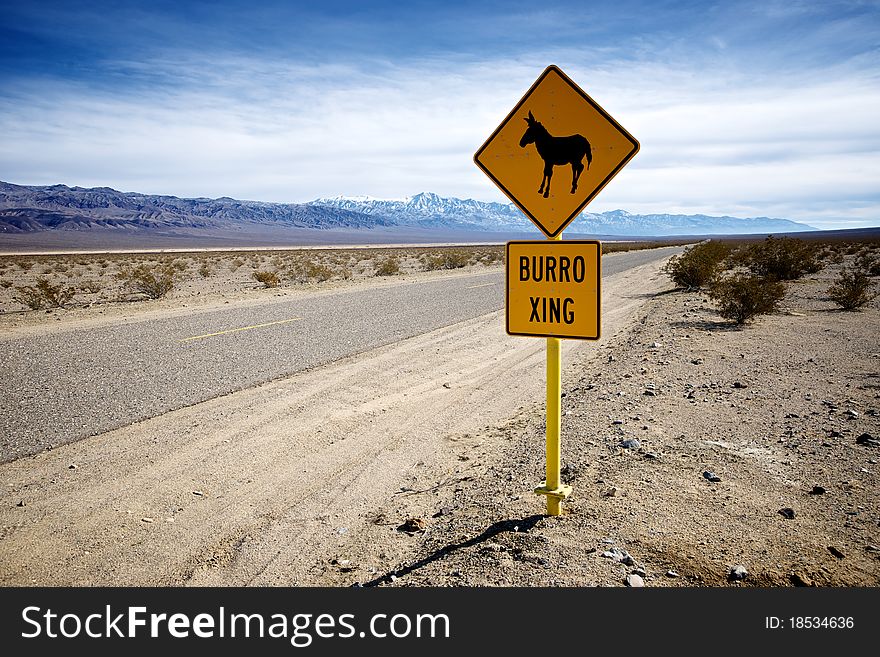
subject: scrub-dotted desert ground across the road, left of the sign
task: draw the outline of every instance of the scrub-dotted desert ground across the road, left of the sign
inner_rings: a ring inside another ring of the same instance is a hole
[[[55,321],[96,313],[122,316],[145,309],[171,310],[350,287],[398,276],[478,271],[502,264],[503,251],[501,245],[462,245],[0,255],[0,319],[3,326],[41,325],[47,318],[40,313],[54,314]],[[154,279],[169,274],[169,291],[148,297],[139,273]],[[261,282],[258,274],[275,278]],[[59,293],[69,292],[63,308],[53,306],[45,295],[36,297],[43,302],[36,308],[39,312],[29,308],[28,293],[41,279]]]

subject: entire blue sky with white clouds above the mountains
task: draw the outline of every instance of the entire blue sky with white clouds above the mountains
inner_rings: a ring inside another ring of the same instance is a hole
[[[548,64],[642,145],[591,211],[880,225],[878,2],[6,2],[0,180],[504,200]]]

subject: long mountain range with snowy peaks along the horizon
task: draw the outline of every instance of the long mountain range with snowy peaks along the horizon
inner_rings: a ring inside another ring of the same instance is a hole
[[[119,192],[109,187],[26,186],[0,182],[0,234],[37,231],[247,230],[374,228],[534,233],[511,203],[445,198],[423,192],[402,200],[319,198],[309,203],[266,203],[228,197],[178,198]],[[787,219],[741,219],[702,214],[582,213],[567,229],[590,235],[665,236],[783,233],[814,230]]]

